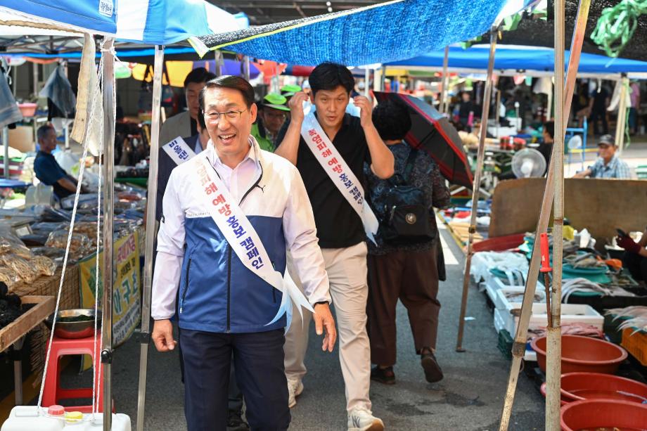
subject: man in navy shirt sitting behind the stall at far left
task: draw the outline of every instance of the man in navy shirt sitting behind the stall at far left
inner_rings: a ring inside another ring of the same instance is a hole
[[[63,199],[77,191],[78,181],[65,172],[51,154],[56,149],[56,130],[51,124],[45,124],[36,131],[39,151],[34,160],[34,173],[36,178],[46,186],[53,186],[54,195]],[[87,193],[85,186],[81,186],[81,193]]]

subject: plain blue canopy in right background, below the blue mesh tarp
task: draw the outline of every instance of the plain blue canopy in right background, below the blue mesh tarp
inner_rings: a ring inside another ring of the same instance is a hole
[[[570,51],[566,51],[566,63]],[[423,56],[387,63],[387,66],[409,70],[442,70],[444,49],[431,51]],[[489,46],[472,46],[462,49],[459,46],[449,48],[449,70],[451,72],[484,72],[487,70]],[[532,75],[552,76],[555,65],[555,53],[551,48],[537,46],[497,45],[494,54],[494,71],[499,75]],[[647,73],[647,62],[628,60],[626,58],[609,58],[596,54],[582,53],[579,59],[577,75],[614,75],[627,73],[639,77]]]

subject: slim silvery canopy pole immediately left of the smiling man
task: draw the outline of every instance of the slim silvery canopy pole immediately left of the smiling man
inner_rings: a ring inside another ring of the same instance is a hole
[[[249,63],[248,63],[249,64]],[[150,165],[148,168],[148,201],[146,202],[146,252],[143,267],[143,292],[141,300],[141,332],[139,334],[139,391],[137,394],[137,431],[143,431],[146,406],[146,375],[148,371],[148,345],[150,344],[150,295],[153,285],[153,255],[156,235],[155,208],[158,196],[158,165],[160,153],[160,113],[162,97],[162,67],[164,46],[155,46],[153,65],[153,117],[150,125]]]

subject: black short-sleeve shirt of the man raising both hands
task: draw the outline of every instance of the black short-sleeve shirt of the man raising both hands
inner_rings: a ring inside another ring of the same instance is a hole
[[[316,115],[316,114],[315,114]],[[283,141],[289,121],[283,125],[276,136],[276,144]],[[333,139],[333,145],[344,158],[347,165],[366,189],[364,162],[371,165],[371,153],[366,143],[364,129],[358,117],[344,116],[342,127]],[[351,247],[365,240],[364,226],[357,212],[350,206],[328,174],[314,157],[314,154],[301,137],[297,153],[299,170],[312,204],[319,247]]]

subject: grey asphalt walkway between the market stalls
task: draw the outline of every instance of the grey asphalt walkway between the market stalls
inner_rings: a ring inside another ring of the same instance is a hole
[[[387,430],[498,430],[510,362],[497,349],[497,333],[485,296],[470,287],[463,347],[455,351],[461,302],[463,254],[447,230],[441,229],[447,262],[447,281],[440,285],[442,304],[437,359],[444,379],[425,382],[406,309],[399,305],[395,385],[371,383],[373,414]],[[471,319],[473,318],[473,319]],[[345,430],[344,382],[338,349],[321,352],[321,338],[311,326],[305,390],[291,410],[291,430]],[[89,375],[89,373],[84,373]],[[139,344],[132,338],[115,351],[113,395],[117,411],[136,423]],[[79,377],[79,376],[77,376]],[[186,430],[183,387],[177,352],[160,354],[151,344],[148,354],[146,430]],[[544,429],[544,400],[522,373],[518,380],[510,430]]]

